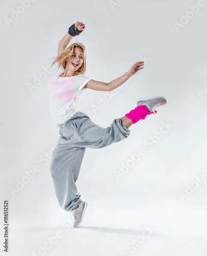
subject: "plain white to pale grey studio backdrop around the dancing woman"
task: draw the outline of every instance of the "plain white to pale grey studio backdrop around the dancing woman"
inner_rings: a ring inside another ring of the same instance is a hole
[[[1,10],[1,221],[9,200],[9,253],[40,255],[43,231],[52,236],[69,216],[49,172],[59,128],[49,112],[47,82],[57,72],[49,66],[58,43],[78,20],[86,28],[70,44],[85,45],[86,76],[109,82],[137,61],[145,67],[120,90],[85,90],[77,110],[107,127],[139,98],[164,96],[167,104],[132,125],[127,139],[87,148],[76,185],[88,202],[81,226],[91,229],[71,229],[73,236],[47,255],[206,255],[206,1],[2,0]],[[145,154],[133,161],[140,148]],[[25,178],[33,168],[39,171]],[[144,225],[156,231],[135,252],[126,249]]]

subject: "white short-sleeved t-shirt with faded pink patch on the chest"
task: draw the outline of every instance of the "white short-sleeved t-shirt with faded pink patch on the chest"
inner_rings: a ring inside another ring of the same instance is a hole
[[[91,78],[85,75],[60,77],[65,70],[60,68],[58,73],[49,79],[49,110],[58,124],[63,124],[78,111],[74,104],[83,93],[82,88]]]

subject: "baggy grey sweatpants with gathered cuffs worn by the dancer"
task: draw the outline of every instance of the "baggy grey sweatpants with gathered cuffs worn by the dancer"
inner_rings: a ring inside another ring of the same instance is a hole
[[[83,112],[77,112],[63,124],[58,124],[60,137],[50,163],[56,196],[60,206],[71,211],[81,202],[75,182],[86,147],[101,148],[127,138],[131,131],[117,118],[107,128],[91,121]]]

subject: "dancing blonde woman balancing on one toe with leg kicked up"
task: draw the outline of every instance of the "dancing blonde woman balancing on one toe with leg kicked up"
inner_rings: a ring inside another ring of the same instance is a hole
[[[155,109],[167,102],[163,97],[139,99],[134,110],[114,119],[107,128],[93,123],[89,116],[77,111],[74,104],[87,88],[112,91],[144,68],[144,62],[138,61],[128,72],[108,83],[85,76],[84,45],[74,43],[66,49],[72,37],[83,30],[85,24],[76,22],[59,42],[58,56],[51,64],[52,67],[58,63],[59,71],[48,82],[49,109],[60,129],[60,137],[50,163],[50,173],[60,206],[73,212],[73,227],[81,224],[87,207],[87,202],[82,201],[77,194],[75,185],[86,147],[102,148],[127,138],[131,133],[128,129],[131,125],[145,119],[147,115],[157,113]]]

